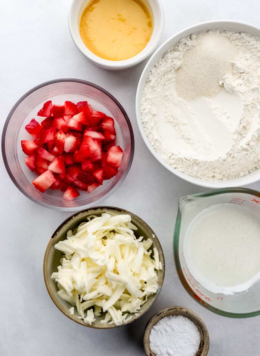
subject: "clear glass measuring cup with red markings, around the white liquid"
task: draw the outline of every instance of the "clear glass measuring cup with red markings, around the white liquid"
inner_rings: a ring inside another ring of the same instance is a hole
[[[174,230],[173,253],[183,287],[203,307],[211,312],[231,318],[249,318],[260,315],[260,282],[243,293],[233,295],[214,294],[201,286],[190,273],[185,257],[186,230],[194,217],[215,204],[231,203],[246,206],[260,219],[260,192],[247,188],[218,189],[208,193],[186,195],[179,200],[179,210]],[[260,236],[259,236],[260,239]],[[259,251],[260,258],[260,251]]]

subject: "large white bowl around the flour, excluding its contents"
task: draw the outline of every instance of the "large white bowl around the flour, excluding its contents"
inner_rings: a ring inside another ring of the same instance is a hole
[[[191,35],[192,33],[204,31],[204,30],[215,30],[215,29],[225,29],[239,32],[248,32],[251,35],[260,37],[260,29],[247,23],[237,22],[237,21],[229,21],[229,20],[217,20],[217,21],[207,21],[201,22],[197,25],[190,26],[185,28],[184,30],[176,33],[172,37],[170,37],[167,41],[165,41],[155,53],[153,53],[152,57],[149,59],[148,63],[143,69],[141,78],[139,80],[139,84],[136,92],[136,101],[135,101],[135,110],[136,110],[136,119],[139,130],[141,132],[143,141],[145,141],[146,146],[149,148],[153,156],[170,172],[174,173],[176,176],[186,180],[187,182],[200,185],[201,187],[207,188],[227,188],[227,187],[239,187],[242,185],[247,185],[256,182],[260,179],[260,169],[248,174],[247,176],[235,179],[228,179],[226,181],[213,181],[213,180],[204,180],[199,178],[194,178],[188,176],[188,174],[182,173],[177,169],[170,166],[164,159],[155,151],[153,146],[151,145],[148,137],[146,136],[145,130],[143,129],[142,119],[141,119],[141,99],[143,88],[145,87],[146,80],[151,69],[155,66],[156,62],[159,58],[163,56],[163,54],[171,47],[173,47],[181,38]]]

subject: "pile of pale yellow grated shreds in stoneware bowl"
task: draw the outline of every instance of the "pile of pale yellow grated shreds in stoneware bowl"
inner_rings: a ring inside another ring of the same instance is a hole
[[[54,247],[63,252],[58,272],[58,294],[77,309],[78,318],[91,325],[106,312],[101,323],[122,325],[157,292],[157,271],[162,269],[152,240],[136,239],[130,215],[91,215],[67,239]],[[94,308],[94,310],[92,309]]]

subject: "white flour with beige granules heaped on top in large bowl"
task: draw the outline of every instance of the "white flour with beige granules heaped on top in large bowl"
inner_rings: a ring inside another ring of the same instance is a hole
[[[225,30],[182,38],[147,79],[146,135],[167,163],[190,176],[243,177],[260,168],[259,85],[260,38]]]

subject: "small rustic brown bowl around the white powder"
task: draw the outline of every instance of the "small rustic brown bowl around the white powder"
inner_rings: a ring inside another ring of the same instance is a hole
[[[206,325],[200,319],[199,316],[193,313],[190,309],[183,307],[170,307],[163,309],[157,314],[153,315],[152,318],[148,321],[145,328],[145,334],[143,335],[143,346],[145,347],[146,355],[156,356],[156,354],[154,354],[150,349],[150,333],[152,327],[157,324],[160,319],[164,318],[165,316],[171,315],[182,315],[193,321],[200,333],[200,346],[195,356],[206,356],[208,354],[208,348],[210,346],[210,339],[208,336],[208,330],[206,328]]]

